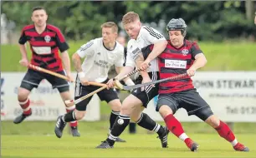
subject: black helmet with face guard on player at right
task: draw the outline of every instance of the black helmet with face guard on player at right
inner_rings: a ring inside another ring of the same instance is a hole
[[[170,22],[168,22],[166,26],[167,31],[172,30],[181,30],[183,37],[187,34],[187,25],[186,22],[182,18],[172,18]]]

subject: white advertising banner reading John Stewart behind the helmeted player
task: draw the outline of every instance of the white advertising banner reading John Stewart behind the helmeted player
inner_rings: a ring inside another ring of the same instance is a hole
[[[213,113],[223,121],[256,121],[256,72],[197,72],[192,79]],[[152,119],[162,121],[155,108],[151,101],[145,111]],[[187,116],[184,109],[175,116],[179,121],[200,121],[197,116]]]

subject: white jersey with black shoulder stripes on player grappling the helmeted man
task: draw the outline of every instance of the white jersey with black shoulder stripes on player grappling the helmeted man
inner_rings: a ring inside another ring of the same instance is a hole
[[[156,31],[156,29],[146,26],[141,27],[137,39],[131,39],[127,44],[127,59],[125,62],[125,66],[136,67],[135,60],[139,52],[141,52],[141,48],[151,44],[155,44],[156,42],[162,40],[166,40],[166,38],[163,35],[161,35],[160,32]],[[159,71],[157,59],[151,61],[151,66],[148,68],[147,71]]]

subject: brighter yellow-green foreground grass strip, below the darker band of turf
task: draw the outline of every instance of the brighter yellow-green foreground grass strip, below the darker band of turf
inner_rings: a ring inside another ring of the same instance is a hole
[[[192,153],[175,136],[168,137],[169,148],[162,149],[154,135],[123,135],[126,143],[115,143],[114,149],[98,150],[106,136],[102,133],[87,133],[80,138],[63,136],[2,136],[3,158],[46,158],[46,157],[255,157],[255,135],[237,135],[239,141],[250,147],[250,152],[233,151],[232,146],[216,134],[191,134],[200,145],[199,151]]]

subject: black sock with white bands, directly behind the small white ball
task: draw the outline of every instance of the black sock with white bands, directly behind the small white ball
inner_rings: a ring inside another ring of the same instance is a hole
[[[120,134],[125,131],[126,126],[129,125],[131,116],[120,115],[115,120],[114,126],[112,127],[110,136],[106,141],[110,143],[110,146],[115,144],[115,140]]]

